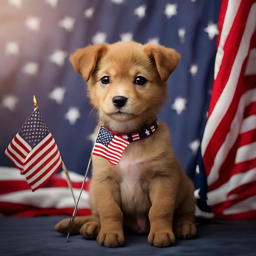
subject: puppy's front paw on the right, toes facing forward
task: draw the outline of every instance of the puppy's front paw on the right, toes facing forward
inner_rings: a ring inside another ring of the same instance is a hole
[[[157,247],[167,247],[175,245],[175,236],[171,231],[150,231],[148,235],[148,243]]]

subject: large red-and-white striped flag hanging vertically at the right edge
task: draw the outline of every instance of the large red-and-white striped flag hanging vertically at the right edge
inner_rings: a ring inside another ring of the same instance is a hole
[[[256,1],[223,0],[201,144],[208,203],[219,218],[256,218]]]

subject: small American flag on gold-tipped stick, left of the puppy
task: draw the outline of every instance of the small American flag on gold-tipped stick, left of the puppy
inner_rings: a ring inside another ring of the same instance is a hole
[[[25,175],[32,191],[48,182],[62,164],[56,142],[38,109],[27,118],[4,153]]]

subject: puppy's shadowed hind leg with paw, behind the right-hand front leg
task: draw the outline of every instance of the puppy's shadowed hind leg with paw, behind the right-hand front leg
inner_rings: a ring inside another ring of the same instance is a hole
[[[191,182],[190,182],[191,183]],[[182,204],[175,210],[174,234],[177,238],[191,239],[197,234],[195,226],[195,198],[193,185],[189,183],[188,193]]]

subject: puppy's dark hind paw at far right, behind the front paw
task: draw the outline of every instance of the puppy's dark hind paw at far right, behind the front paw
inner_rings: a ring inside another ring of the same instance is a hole
[[[181,239],[191,239],[197,234],[197,229],[195,224],[190,221],[178,222],[174,226],[174,233],[177,238]]]

